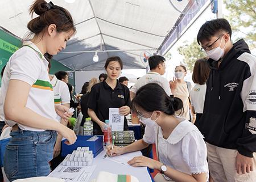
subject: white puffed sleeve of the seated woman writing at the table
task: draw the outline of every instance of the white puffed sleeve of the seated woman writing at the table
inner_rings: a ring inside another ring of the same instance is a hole
[[[191,174],[208,172],[207,147],[199,131],[193,130],[182,139],[181,151]]]

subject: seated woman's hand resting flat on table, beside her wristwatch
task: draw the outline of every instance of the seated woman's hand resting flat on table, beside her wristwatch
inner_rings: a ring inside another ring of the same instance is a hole
[[[128,164],[133,167],[143,166],[156,170],[159,170],[160,166],[162,166],[162,163],[160,163],[159,161],[147,158],[146,156],[135,156],[135,158],[128,161]]]

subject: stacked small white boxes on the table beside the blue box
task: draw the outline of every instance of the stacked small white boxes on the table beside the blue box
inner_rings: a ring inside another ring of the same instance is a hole
[[[68,154],[61,163],[63,166],[92,166],[93,153],[89,147],[77,147],[72,154]]]

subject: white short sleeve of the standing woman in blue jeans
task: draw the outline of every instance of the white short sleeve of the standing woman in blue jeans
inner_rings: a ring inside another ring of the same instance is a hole
[[[39,60],[36,53],[26,49],[28,48],[22,48],[20,52],[11,58],[10,79],[18,79],[32,86],[41,73],[42,65],[40,61],[42,60]]]

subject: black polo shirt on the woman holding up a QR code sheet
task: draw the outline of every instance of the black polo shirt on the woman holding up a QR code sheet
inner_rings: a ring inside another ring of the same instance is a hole
[[[117,86],[115,86],[113,90],[104,81],[97,83],[92,87],[88,108],[93,109],[97,117],[105,122],[105,120],[109,119],[109,108],[120,108],[125,105],[130,107],[130,104],[131,100],[128,87],[117,81]],[[123,130],[128,130],[126,117]],[[93,122],[93,131],[101,132],[101,128],[96,122]]]

